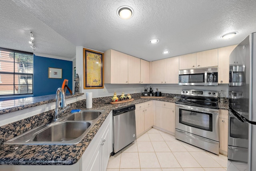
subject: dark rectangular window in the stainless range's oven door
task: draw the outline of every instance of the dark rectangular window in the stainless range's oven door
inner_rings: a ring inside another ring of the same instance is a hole
[[[204,113],[187,109],[179,110],[180,123],[198,129],[212,131],[212,113]]]

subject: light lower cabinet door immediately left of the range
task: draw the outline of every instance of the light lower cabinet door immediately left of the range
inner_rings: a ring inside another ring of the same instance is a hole
[[[156,126],[166,131],[172,131],[171,112],[173,109],[156,106]],[[175,122],[175,121],[174,121]]]

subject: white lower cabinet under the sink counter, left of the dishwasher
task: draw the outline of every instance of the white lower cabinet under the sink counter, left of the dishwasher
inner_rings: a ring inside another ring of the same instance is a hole
[[[106,171],[112,144],[112,111],[74,165],[0,165],[0,171]]]

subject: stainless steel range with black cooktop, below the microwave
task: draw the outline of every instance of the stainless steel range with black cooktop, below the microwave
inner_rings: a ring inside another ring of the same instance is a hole
[[[182,90],[176,101],[175,138],[219,154],[218,91]]]

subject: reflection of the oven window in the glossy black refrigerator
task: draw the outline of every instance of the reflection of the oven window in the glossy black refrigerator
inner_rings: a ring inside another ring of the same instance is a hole
[[[230,117],[230,137],[248,139],[248,123],[241,123],[235,117]]]

